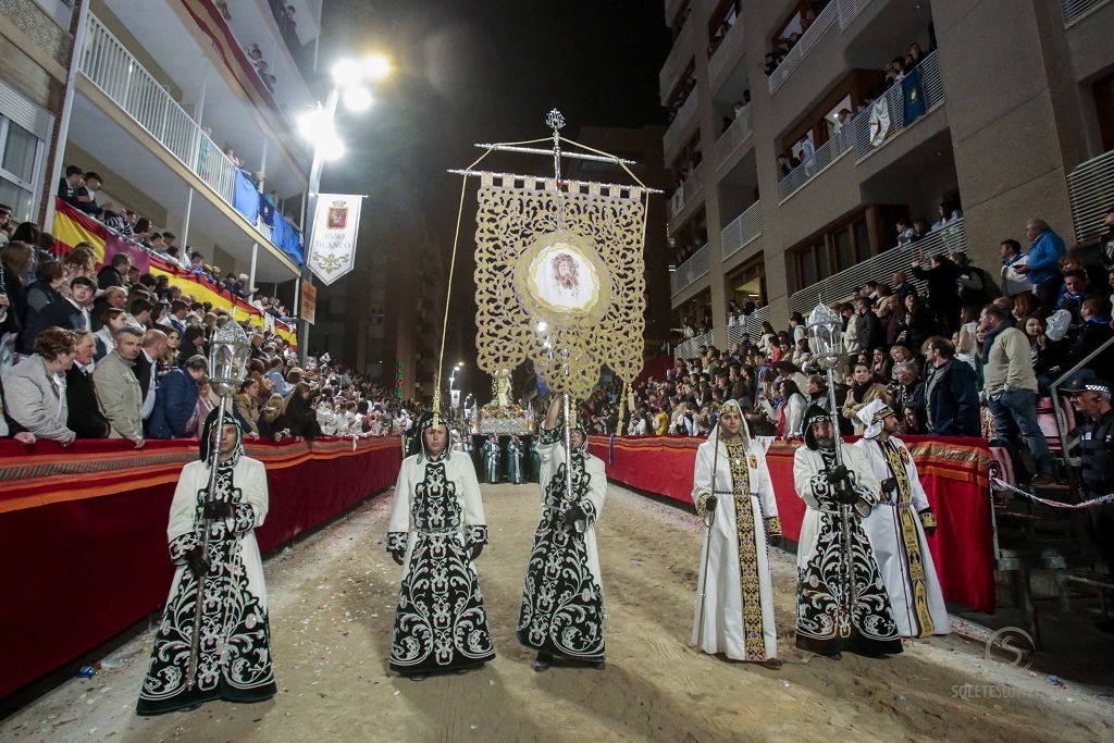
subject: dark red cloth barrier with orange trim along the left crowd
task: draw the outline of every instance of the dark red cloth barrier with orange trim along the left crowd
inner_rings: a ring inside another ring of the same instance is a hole
[[[248,443],[267,468],[272,549],[394,483],[398,437]],[[166,600],[170,498],[196,440],[0,441],[0,697],[126,629]],[[137,690],[138,692],[138,690]]]

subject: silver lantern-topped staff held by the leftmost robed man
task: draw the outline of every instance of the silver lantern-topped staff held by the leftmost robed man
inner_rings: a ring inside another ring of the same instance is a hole
[[[209,519],[205,518],[205,506],[214,500],[216,491],[216,466],[221,457],[221,439],[224,436],[225,403],[247,377],[247,356],[251,345],[247,334],[234,319],[228,319],[223,327],[213,334],[213,352],[209,355],[209,384],[221,397],[216,419],[216,442],[209,441],[209,480],[202,504],[202,555],[208,561]],[[205,436],[205,432],[202,433]],[[209,433],[212,436],[212,433]],[[197,661],[201,653],[202,605],[205,599],[205,575],[197,579],[197,599],[194,603],[194,630],[189,637],[189,666],[186,671],[186,688],[197,684]]]

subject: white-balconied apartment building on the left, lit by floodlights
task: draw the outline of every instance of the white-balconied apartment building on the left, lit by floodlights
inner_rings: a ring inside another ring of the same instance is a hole
[[[237,208],[237,188],[301,228],[312,153],[292,119],[315,105],[321,2],[4,2],[0,202],[50,229],[65,167],[97,172],[98,202],[294,309],[300,261]]]

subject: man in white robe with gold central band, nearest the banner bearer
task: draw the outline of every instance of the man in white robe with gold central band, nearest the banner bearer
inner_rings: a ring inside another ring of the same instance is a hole
[[[781,542],[778,501],[765,449],[750,438],[734,400],[720,409],[717,431],[696,451],[693,502],[710,530],[693,644],[712,655],[780,668],[768,555],[768,545]]]

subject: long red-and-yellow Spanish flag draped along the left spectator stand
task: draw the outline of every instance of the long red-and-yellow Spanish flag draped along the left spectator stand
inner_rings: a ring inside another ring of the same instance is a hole
[[[105,257],[111,260],[117,253],[127,253],[131,263],[139,271],[153,276],[166,276],[172,286],[177,286],[183,294],[188,294],[196,302],[208,302],[214,310],[228,312],[235,320],[244,320],[255,327],[270,330],[293,348],[297,348],[297,333],[290,324],[261,312],[258,307],[248,304],[238,296],[233,296],[223,286],[211,283],[197,274],[172,265],[158,256],[150,255],[139,245],[128,242],[115,232],[88,215],[75,209],[59,198],[55,199],[53,235],[58,244],[55,251],[65,255],[78,243],[92,245],[97,255],[97,264],[105,263]]]

